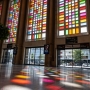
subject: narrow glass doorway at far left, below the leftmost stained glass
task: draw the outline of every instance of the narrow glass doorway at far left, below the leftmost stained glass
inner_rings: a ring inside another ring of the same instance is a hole
[[[13,49],[4,49],[2,56],[2,64],[12,64],[13,63]]]

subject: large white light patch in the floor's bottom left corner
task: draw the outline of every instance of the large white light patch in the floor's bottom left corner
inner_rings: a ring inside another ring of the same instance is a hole
[[[31,89],[26,87],[21,87],[18,85],[7,85],[1,88],[0,90],[31,90]]]

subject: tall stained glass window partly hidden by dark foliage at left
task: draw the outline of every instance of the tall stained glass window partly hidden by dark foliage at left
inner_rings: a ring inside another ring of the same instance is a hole
[[[20,0],[10,0],[6,25],[10,29],[10,36],[6,42],[16,42],[18,20],[20,12]]]

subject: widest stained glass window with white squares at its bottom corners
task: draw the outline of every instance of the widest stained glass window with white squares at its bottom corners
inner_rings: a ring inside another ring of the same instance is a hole
[[[87,33],[87,0],[59,0],[58,36]]]

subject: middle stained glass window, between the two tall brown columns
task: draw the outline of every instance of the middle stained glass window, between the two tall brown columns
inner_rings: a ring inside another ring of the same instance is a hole
[[[46,38],[47,0],[29,0],[27,40]]]

